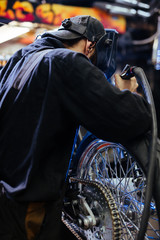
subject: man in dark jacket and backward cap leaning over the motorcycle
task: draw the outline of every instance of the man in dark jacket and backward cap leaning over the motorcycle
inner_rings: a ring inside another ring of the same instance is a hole
[[[115,75],[112,86],[92,64],[104,36],[97,19],[73,17],[16,52],[1,71],[1,240],[61,239],[63,188],[79,125],[122,144],[150,129],[136,79]],[[17,80],[29,57],[46,48],[52,50],[27,81]]]

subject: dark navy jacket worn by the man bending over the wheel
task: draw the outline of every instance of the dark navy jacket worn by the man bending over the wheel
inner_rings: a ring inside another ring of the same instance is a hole
[[[11,87],[0,110],[0,180],[8,196],[20,201],[60,197],[79,125],[122,144],[151,126],[142,97],[112,86],[86,56],[48,35],[11,57],[0,73],[0,98],[15,64],[19,61],[23,67],[24,55],[44,47],[55,49],[43,57],[21,90]]]

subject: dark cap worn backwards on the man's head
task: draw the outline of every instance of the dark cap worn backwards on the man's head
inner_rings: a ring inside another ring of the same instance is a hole
[[[105,34],[105,30],[96,18],[81,15],[65,19],[57,31],[51,30],[48,33],[60,40],[86,37],[89,41],[97,42]]]

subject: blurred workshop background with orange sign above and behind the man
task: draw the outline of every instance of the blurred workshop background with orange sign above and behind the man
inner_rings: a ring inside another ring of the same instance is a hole
[[[160,126],[160,0],[0,0],[0,68],[38,34],[75,15],[91,15],[119,32],[117,70],[144,69]]]

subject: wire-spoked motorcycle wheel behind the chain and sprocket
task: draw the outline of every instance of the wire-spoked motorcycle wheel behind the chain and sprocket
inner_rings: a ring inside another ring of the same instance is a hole
[[[110,190],[120,215],[121,239],[135,240],[144,208],[146,178],[126,149],[119,144],[94,140],[80,157],[77,178],[99,182]],[[160,239],[154,201],[145,239]]]

